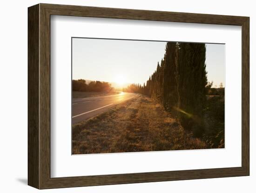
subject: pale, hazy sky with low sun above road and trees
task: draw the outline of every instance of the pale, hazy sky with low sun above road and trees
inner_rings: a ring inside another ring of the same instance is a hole
[[[166,42],[72,39],[72,79],[143,83],[164,57]],[[206,44],[206,70],[213,86],[225,86],[225,45]]]

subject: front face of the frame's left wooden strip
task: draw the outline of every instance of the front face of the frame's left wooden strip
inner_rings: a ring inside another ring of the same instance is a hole
[[[40,58],[39,58],[39,154],[40,154],[40,188],[44,187],[47,180],[50,178],[50,143],[51,143],[51,129],[50,129],[50,14],[47,13],[47,9],[40,6]]]

